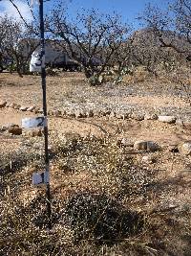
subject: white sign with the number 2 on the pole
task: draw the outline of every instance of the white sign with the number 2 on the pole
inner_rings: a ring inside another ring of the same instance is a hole
[[[22,128],[40,128],[47,126],[47,118],[44,116],[22,119]]]

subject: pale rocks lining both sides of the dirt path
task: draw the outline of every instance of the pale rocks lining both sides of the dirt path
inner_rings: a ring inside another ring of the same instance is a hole
[[[0,101],[0,108],[5,108],[5,107],[11,107],[13,109],[17,109],[20,111],[28,111],[28,112],[34,112],[34,113],[43,113],[43,109],[38,107],[38,106],[26,106],[26,105],[16,105],[14,103],[7,103],[6,101]],[[182,121],[180,119],[177,119],[175,116],[158,116],[157,114],[141,114],[141,113],[136,113],[136,112],[121,112],[117,113],[115,111],[109,111],[106,109],[105,111],[102,109],[101,111],[98,111],[98,113],[95,113],[92,109],[89,109],[89,111],[85,111],[84,109],[75,109],[74,112],[64,110],[61,111],[59,109],[56,110],[49,110],[48,112],[49,116],[54,116],[54,117],[73,117],[73,118],[92,118],[92,117],[103,117],[103,116],[108,116],[110,118],[117,118],[117,119],[132,119],[136,121],[142,121],[142,120],[159,120],[159,122],[166,123],[166,124],[176,124],[176,126],[180,128],[190,128],[191,127],[191,122],[189,121]],[[20,128],[17,125],[12,125],[10,128],[4,128],[3,130],[9,130],[11,134],[15,135],[20,135],[22,134],[22,128]],[[29,134],[32,137],[33,136],[42,136],[43,131],[42,129],[37,129],[34,130],[33,133]],[[134,147],[136,150],[146,150],[146,151],[158,151],[159,150],[159,145],[156,142],[152,141],[137,141],[134,144],[129,141],[126,138],[121,139],[118,141],[120,145],[126,146],[126,147]],[[118,144],[117,143],[117,144]],[[173,147],[172,149],[169,149],[169,151],[177,151],[178,149]],[[179,151],[179,150],[178,150]],[[181,145],[180,147],[180,152],[181,154],[184,155],[191,155],[191,142],[185,142]],[[143,159],[144,161],[150,161],[151,159]]]

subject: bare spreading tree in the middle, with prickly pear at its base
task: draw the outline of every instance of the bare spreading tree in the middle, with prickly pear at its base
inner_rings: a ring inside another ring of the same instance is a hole
[[[129,29],[118,15],[100,14],[95,10],[77,14],[70,21],[65,12],[53,10],[47,28],[60,39],[60,47],[83,68],[86,78],[98,78],[116,55]]]

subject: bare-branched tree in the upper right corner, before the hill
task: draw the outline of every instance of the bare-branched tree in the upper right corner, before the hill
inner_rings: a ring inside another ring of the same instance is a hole
[[[160,47],[174,49],[187,60],[191,58],[190,0],[176,0],[167,12],[148,5],[140,19],[159,39]]]

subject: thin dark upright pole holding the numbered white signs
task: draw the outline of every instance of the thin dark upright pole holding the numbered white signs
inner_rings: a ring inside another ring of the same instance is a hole
[[[43,18],[43,0],[39,0],[39,14],[40,14],[40,46],[41,46],[41,81],[42,81],[42,93],[43,93],[43,112],[44,118],[47,121],[47,93],[46,93],[46,70],[45,70],[45,38],[44,38],[44,18]],[[44,126],[44,138],[45,138],[45,165],[46,174],[49,176],[49,150],[48,150],[48,125],[45,122]],[[47,215],[48,215],[48,227],[52,228],[52,209],[51,209],[51,192],[50,183],[46,185],[46,197],[47,197]]]

